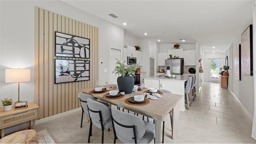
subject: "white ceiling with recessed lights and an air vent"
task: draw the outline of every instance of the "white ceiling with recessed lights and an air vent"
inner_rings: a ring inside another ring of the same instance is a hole
[[[225,52],[252,21],[254,0],[72,0],[64,1],[124,28],[134,38],[161,43],[196,43],[204,51]],[[108,14],[115,14],[112,18]],[[126,22],[124,26],[122,23]],[[148,33],[144,36],[144,33]],[[165,33],[165,34],[163,34]],[[185,38],[186,42],[181,42]],[[216,48],[213,49],[212,46]]]

